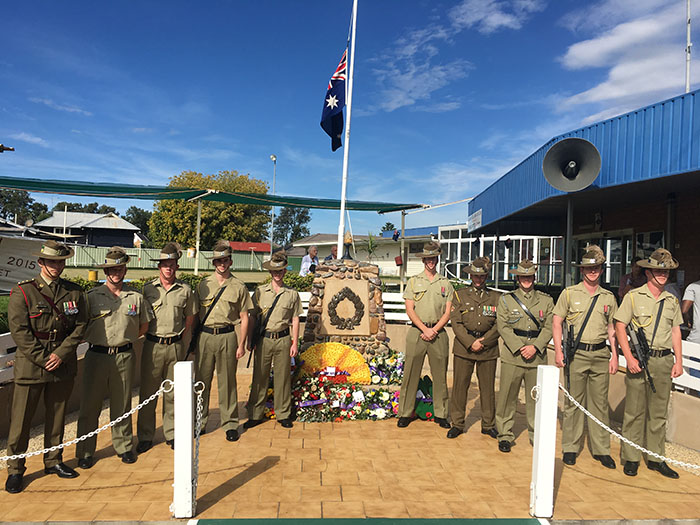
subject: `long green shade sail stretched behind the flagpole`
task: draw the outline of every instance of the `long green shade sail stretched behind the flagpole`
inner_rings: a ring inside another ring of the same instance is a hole
[[[228,202],[230,204],[256,204],[258,206],[286,206],[291,208],[314,208],[323,210],[340,209],[340,201],[336,199],[290,197],[285,195],[268,195],[265,193],[230,193],[218,190],[173,188],[170,186],[138,186],[134,184],[114,184],[107,182],[49,181],[0,176],[0,189],[111,199],[190,200],[200,198],[204,201]],[[422,207],[421,204],[345,201],[345,208],[348,210],[376,211],[378,213],[410,210],[420,207]]]

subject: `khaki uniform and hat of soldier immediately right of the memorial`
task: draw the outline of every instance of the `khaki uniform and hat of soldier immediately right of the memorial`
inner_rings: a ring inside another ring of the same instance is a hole
[[[428,246],[437,243],[427,243],[422,258],[432,257]],[[435,256],[440,253],[439,245],[434,250]],[[414,301],[418,318],[428,327],[435,326],[445,314],[447,303],[452,302],[454,288],[446,277],[436,274],[431,281],[425,271],[408,280],[403,298]],[[433,379],[433,409],[436,418],[447,418],[447,364],[450,354],[450,341],[445,330],[440,330],[432,341],[424,341],[420,337],[421,330],[411,326],[406,334],[406,357],[404,375],[401,382],[399,397],[399,418],[410,418],[415,409],[418,380],[423,369],[426,354],[430,363],[430,375]]]

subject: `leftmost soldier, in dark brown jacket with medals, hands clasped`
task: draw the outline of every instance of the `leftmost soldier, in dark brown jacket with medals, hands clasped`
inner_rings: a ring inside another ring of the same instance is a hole
[[[14,366],[15,388],[10,408],[7,454],[24,454],[29,429],[39,402],[44,401],[44,447],[63,442],[66,403],[77,371],[75,350],[88,320],[87,299],[82,289],[61,273],[73,249],[46,241],[39,253],[41,273],[12,289],[7,306],[12,339],[17,345]],[[75,470],[63,463],[62,451],[44,454],[44,472],[74,478]],[[7,462],[5,490],[22,491],[24,459]]]

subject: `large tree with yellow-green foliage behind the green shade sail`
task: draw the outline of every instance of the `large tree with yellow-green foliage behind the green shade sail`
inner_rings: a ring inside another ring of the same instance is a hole
[[[183,171],[170,179],[171,188],[213,189],[226,192],[267,193],[267,183],[237,171],[220,171],[203,175]],[[270,221],[269,206],[202,202],[202,249],[211,248],[217,240],[259,242],[265,238]],[[160,200],[148,221],[151,241],[156,246],[179,242],[194,246],[197,237],[197,203],[181,200]]]

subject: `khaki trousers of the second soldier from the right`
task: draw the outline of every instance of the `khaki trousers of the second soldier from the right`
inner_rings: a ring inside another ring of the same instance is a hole
[[[571,361],[569,393],[601,422],[609,425],[608,387],[610,384],[610,350],[577,350]],[[564,453],[578,454],[583,448],[586,415],[566,398],[561,429]],[[600,425],[588,421],[588,441],[595,456],[610,455],[610,434]]]

